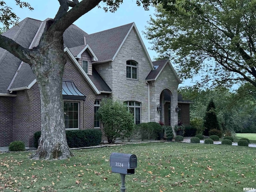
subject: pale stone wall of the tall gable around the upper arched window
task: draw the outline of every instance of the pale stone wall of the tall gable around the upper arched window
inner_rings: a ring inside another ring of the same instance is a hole
[[[126,78],[126,61],[138,63],[138,79]],[[131,30],[122,48],[112,62],[112,97],[114,100],[141,103],[141,122],[148,122],[148,85],[146,77],[152,70],[151,64],[139,42],[134,29]]]

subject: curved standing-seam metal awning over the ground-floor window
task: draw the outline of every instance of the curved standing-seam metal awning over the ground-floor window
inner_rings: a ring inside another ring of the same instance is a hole
[[[63,99],[77,99],[77,100],[85,100],[86,96],[82,94],[73,80],[70,79],[62,79],[62,97]]]

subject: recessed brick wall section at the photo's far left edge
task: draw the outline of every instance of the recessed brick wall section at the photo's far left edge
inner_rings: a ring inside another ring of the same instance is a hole
[[[0,96],[0,147],[12,142],[13,99]]]

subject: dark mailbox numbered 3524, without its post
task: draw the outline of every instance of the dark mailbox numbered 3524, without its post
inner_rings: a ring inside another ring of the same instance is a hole
[[[137,167],[137,157],[133,154],[112,153],[110,155],[112,172],[120,174],[134,174]]]

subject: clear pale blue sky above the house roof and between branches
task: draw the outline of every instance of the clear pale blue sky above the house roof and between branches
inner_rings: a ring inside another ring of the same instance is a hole
[[[34,8],[30,11],[27,8],[19,8],[15,4],[14,0],[8,0],[8,6],[12,7],[13,11],[20,18],[20,21],[26,17],[45,20],[46,18],[54,18],[59,8],[58,0],[23,0]],[[104,4],[100,3],[100,6]],[[131,22],[135,22],[140,36],[148,50],[150,58],[154,60],[157,53],[154,50],[150,50],[152,46],[148,40],[144,37],[142,31],[145,31],[145,26],[148,26],[147,21],[150,20],[150,15],[154,17],[154,8],[150,7],[150,10],[145,11],[142,6],[136,5],[136,0],[124,0],[124,3],[120,5],[120,8],[115,12],[104,12],[102,8],[94,8],[90,12],[80,17],[74,24],[87,32],[88,34],[99,32],[102,30],[114,28]],[[175,66],[174,66],[175,68]],[[184,80],[180,86],[192,85],[191,80]]]

